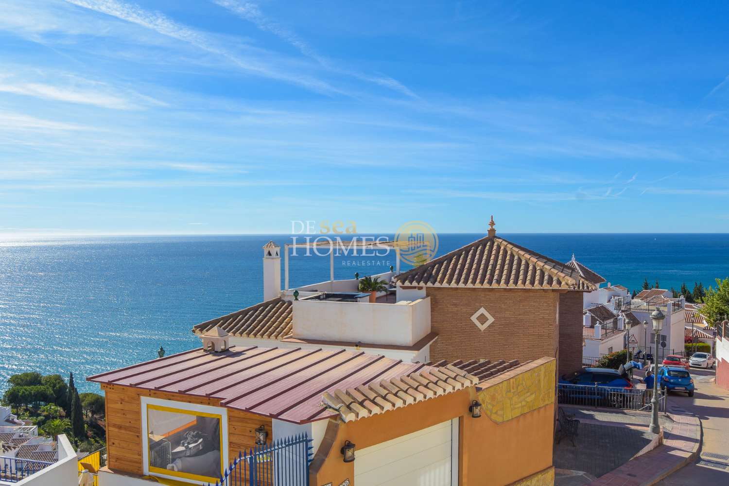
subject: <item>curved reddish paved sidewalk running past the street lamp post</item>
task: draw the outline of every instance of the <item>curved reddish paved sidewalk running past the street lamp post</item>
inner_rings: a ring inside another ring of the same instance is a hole
[[[623,466],[590,482],[590,486],[647,486],[692,463],[701,444],[701,422],[680,407],[669,407],[674,421],[671,431],[664,431],[663,445],[634,458]]]

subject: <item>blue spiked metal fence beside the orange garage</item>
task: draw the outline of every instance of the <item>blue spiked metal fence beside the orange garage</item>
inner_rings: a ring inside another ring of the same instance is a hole
[[[311,450],[301,434],[238,452],[215,486],[309,486]]]

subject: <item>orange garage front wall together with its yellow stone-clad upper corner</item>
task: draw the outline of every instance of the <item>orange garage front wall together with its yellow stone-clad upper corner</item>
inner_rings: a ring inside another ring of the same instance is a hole
[[[542,358],[485,382],[479,393],[471,387],[351,423],[332,420],[312,463],[311,485],[349,479],[356,486],[354,463],[343,463],[340,453],[346,440],[362,450],[453,418],[461,424],[461,485],[503,486],[534,475],[546,482],[525,484],[553,484],[553,475],[539,474],[552,467],[554,376],[555,359]],[[469,415],[474,399],[484,401],[481,418]]]

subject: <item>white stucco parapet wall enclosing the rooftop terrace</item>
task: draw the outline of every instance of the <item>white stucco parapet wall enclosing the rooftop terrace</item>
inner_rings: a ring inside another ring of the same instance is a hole
[[[412,346],[430,332],[430,298],[396,304],[293,302],[293,337]]]

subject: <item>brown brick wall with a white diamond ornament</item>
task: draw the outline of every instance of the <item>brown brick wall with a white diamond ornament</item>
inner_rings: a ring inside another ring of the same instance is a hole
[[[438,334],[430,346],[433,361],[556,357],[558,291],[426,287],[426,294]],[[494,317],[483,331],[471,321],[480,307]]]

